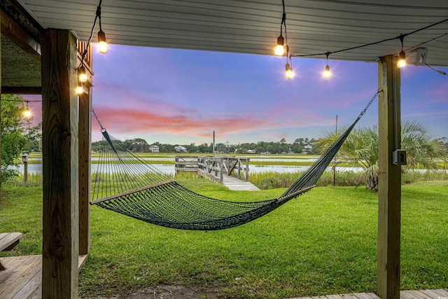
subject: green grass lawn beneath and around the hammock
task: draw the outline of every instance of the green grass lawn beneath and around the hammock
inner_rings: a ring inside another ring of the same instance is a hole
[[[231,191],[179,181],[225,200],[262,200],[284,189]],[[24,232],[6,255],[41,253],[41,188],[1,190],[0,228]],[[448,287],[448,181],[402,187],[402,289]],[[376,291],[377,194],[317,187],[251,223],[211,232],[161,228],[92,207],[91,251],[80,296],[146,286],[219,288],[220,298],[291,298]]]

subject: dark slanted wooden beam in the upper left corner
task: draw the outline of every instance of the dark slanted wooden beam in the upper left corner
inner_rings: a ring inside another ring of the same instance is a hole
[[[41,59],[41,44],[4,11],[1,11],[1,34],[36,60]]]

